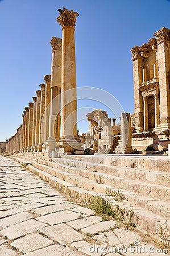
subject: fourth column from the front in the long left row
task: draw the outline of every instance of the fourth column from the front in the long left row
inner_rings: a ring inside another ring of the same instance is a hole
[[[39,120],[39,144],[38,152],[42,151],[42,145],[44,142],[44,110],[45,110],[45,85],[40,84],[41,88],[41,99],[40,99],[40,120]]]

